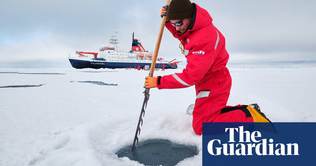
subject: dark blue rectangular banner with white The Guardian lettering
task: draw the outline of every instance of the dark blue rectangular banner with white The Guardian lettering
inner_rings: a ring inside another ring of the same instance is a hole
[[[316,123],[203,123],[203,166],[315,165]]]

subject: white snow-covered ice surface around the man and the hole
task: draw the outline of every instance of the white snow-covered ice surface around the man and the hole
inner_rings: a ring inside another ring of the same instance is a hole
[[[229,70],[233,85],[227,105],[258,103],[272,122],[316,122],[316,68]],[[155,71],[154,76],[181,71]],[[148,74],[134,69],[0,69],[0,87],[44,84],[0,88],[0,165],[143,165],[115,152],[132,146]],[[202,165],[202,136],[194,133],[192,116],[186,114],[194,100],[194,86],[150,89],[139,141],[161,138],[194,145],[199,154],[178,165]]]

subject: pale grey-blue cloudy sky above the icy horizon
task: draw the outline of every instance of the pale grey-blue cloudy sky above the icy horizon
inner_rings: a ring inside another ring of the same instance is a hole
[[[226,38],[228,62],[316,62],[316,1],[192,0],[209,11]],[[99,52],[119,30],[119,48],[131,34],[154,51],[161,0],[2,0],[0,68],[68,68],[76,51]],[[185,61],[165,29],[158,57]]]

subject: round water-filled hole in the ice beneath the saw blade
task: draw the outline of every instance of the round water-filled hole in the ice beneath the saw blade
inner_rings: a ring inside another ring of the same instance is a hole
[[[118,157],[128,157],[144,165],[173,166],[185,158],[198,154],[197,147],[193,145],[175,144],[167,139],[149,139],[139,142],[131,152],[128,145],[115,154]]]

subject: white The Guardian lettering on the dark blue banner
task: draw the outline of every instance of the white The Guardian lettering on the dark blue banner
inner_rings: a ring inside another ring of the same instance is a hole
[[[235,131],[239,134],[239,140],[235,140],[235,134],[237,134]],[[261,132],[244,131],[244,126],[239,126],[238,128],[225,128],[225,133],[229,133],[228,144],[221,144],[220,139],[212,139],[208,142],[207,151],[210,155],[299,155],[299,145],[297,143],[282,144],[274,143],[274,140],[272,138],[261,139]]]

